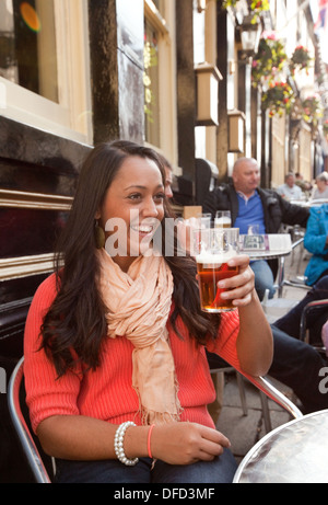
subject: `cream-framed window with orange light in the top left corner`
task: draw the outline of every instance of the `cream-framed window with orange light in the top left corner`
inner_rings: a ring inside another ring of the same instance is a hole
[[[90,142],[87,0],[1,0],[0,114]]]

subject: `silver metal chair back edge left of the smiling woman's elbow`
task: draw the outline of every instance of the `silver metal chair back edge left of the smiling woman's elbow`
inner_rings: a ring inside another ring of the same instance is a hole
[[[24,358],[17,363],[13,370],[8,388],[8,406],[12,424],[17,434],[19,440],[22,445],[24,455],[26,456],[27,463],[37,483],[48,484],[51,483],[50,477],[43,462],[40,454],[36,447],[33,436],[24,418],[21,402],[20,390],[24,372]]]

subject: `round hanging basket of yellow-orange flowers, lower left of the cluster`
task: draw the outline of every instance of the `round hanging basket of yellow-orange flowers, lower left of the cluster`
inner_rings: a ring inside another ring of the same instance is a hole
[[[262,93],[262,108],[269,110],[269,116],[276,114],[282,116],[283,112],[290,112],[294,102],[294,93],[286,82],[271,82],[266,92]]]

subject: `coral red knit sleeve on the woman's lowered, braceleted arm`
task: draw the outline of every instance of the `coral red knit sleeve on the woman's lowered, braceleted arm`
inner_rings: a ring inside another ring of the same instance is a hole
[[[24,377],[26,403],[32,428],[52,415],[79,415],[80,377],[67,372],[57,378],[52,363],[40,349],[43,318],[56,297],[56,276],[52,274],[37,289],[27,315],[24,334]]]

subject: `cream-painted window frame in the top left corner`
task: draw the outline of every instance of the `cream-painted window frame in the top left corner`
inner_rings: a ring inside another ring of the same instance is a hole
[[[55,0],[54,14],[59,103],[0,77],[0,116],[91,145],[87,0]]]

